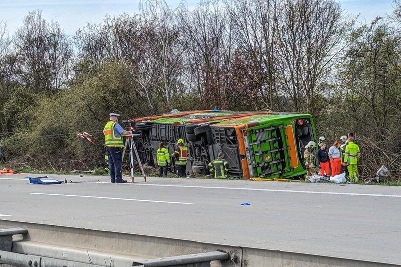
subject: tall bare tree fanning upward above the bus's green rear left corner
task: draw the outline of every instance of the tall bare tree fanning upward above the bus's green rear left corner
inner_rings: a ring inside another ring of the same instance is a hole
[[[274,109],[277,90],[276,28],[281,0],[236,0],[227,8],[233,18],[236,44],[254,67],[254,80],[259,84],[261,99]]]

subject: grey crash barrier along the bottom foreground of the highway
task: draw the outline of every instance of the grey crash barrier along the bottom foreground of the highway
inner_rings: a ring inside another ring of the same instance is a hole
[[[0,220],[0,263],[15,266],[396,266],[386,262]],[[14,238],[13,235],[18,238]],[[1,265],[1,264],[0,264]]]

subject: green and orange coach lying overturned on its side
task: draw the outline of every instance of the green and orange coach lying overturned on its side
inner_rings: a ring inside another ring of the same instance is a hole
[[[290,178],[306,173],[305,146],[316,140],[312,116],[286,112],[195,110],[129,120],[142,162],[156,165],[164,142],[172,153],[176,141],[188,147],[187,174],[208,174],[207,165],[221,151],[229,176]]]

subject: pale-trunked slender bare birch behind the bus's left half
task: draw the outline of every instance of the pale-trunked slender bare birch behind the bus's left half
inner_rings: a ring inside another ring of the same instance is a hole
[[[170,9],[163,0],[146,0],[141,5],[141,16],[149,32],[145,36],[145,58],[138,78],[144,88],[150,86],[158,95],[163,95],[166,109],[172,107],[171,101],[178,94],[177,79],[183,70],[177,21],[182,8],[181,3]]]

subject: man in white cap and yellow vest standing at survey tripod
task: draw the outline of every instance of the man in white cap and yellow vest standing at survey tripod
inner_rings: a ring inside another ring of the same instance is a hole
[[[132,131],[124,130],[118,124],[120,114],[110,113],[109,115],[110,120],[104,126],[103,134],[109,158],[110,181],[112,184],[126,183],[127,181],[123,180],[121,176],[122,149],[124,147],[122,135],[132,135]]]

